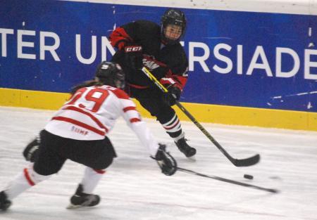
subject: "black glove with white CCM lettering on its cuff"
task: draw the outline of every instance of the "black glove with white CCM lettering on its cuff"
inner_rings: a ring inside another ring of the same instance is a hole
[[[127,65],[134,70],[141,69],[143,66],[142,46],[130,43],[125,45],[124,50],[125,50],[125,62],[127,63]]]

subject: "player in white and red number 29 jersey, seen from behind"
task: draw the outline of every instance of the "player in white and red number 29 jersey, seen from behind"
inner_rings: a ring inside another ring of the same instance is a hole
[[[123,116],[139,141],[147,147],[161,172],[168,176],[177,170],[174,158],[166,152],[166,145],[156,142],[142,122],[135,103],[122,89],[125,75],[120,65],[102,62],[94,80],[73,89],[73,95],[51,118],[40,132],[37,144],[24,152],[32,157],[29,167],[0,192],[0,210],[5,211],[20,193],[56,174],[66,160],[86,166],[81,183],[70,198],[70,208],[92,207],[100,202],[92,194],[105,169],[110,166],[115,150],[107,134],[118,117]],[[36,148],[32,148],[35,146]],[[36,154],[35,154],[36,152]]]

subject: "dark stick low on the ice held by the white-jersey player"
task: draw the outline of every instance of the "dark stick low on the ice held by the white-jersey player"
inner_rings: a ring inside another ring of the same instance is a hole
[[[279,193],[279,191],[274,189],[274,188],[263,188],[261,186],[254,186],[254,185],[251,185],[251,184],[248,184],[248,183],[242,183],[242,182],[234,181],[234,180],[231,180],[231,179],[225,179],[225,178],[219,177],[219,176],[209,176],[209,175],[206,175],[206,174],[200,174],[200,173],[194,172],[194,171],[192,171],[190,169],[184,169],[184,168],[178,167],[178,171],[184,172],[184,173],[187,173],[187,174],[193,174],[193,175],[196,175],[196,176],[202,176],[202,177],[206,177],[206,178],[210,178],[210,179],[216,179],[218,181],[223,181],[223,182],[226,182],[226,183],[232,183],[232,184],[239,185],[239,186],[250,187],[250,188],[254,188],[256,190],[263,190],[263,191],[267,191],[267,192],[270,192],[270,193]]]

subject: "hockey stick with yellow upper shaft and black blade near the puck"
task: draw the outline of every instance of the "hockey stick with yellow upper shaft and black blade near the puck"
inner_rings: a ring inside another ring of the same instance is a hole
[[[149,70],[147,70],[146,67],[142,67],[142,72],[144,72],[144,74],[147,75],[147,77],[149,77],[149,79],[151,79],[151,81],[154,82],[154,84],[156,84],[156,86],[158,86],[159,89],[161,89],[161,91],[163,91],[164,93],[168,92],[168,90],[159,82],[159,80],[156,79],[156,77],[154,77],[154,75],[151,74],[151,72],[149,72]],[[199,128],[199,130],[201,130],[201,132],[204,133],[204,135],[206,135],[207,138],[209,138],[209,140],[214,145],[216,145],[216,147],[221,151],[221,153],[223,153],[223,155],[225,155],[225,157],[227,157],[228,160],[230,160],[230,162],[232,162],[232,164],[234,164],[236,167],[249,167],[259,162],[259,154],[256,154],[252,157],[248,157],[245,159],[235,159],[231,157],[231,155],[220,145],[220,143],[218,143],[215,140],[215,138],[213,138],[213,136],[211,136],[211,134],[209,134],[209,132],[206,131],[204,127],[202,127],[202,125],[197,121],[197,119],[195,119],[194,116],[192,116],[192,114],[190,114],[185,109],[185,107],[182,106],[182,104],[180,104],[179,101],[176,101],[176,105],[178,106],[178,108],[180,108],[180,110],[182,110],[182,112],[185,113],[185,115],[187,115],[187,117],[189,117],[189,119],[191,119],[192,122],[194,122],[194,124]]]

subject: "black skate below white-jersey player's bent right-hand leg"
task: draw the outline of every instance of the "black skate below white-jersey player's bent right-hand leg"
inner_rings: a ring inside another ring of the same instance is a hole
[[[82,184],[80,184],[76,190],[75,195],[70,198],[70,205],[68,205],[67,208],[77,209],[80,207],[92,207],[98,205],[99,202],[99,195],[82,193]]]

